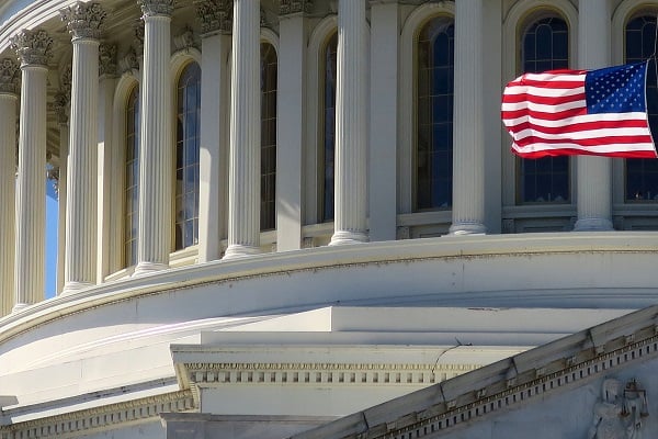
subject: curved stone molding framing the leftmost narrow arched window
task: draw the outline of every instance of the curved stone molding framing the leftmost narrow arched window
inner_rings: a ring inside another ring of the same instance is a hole
[[[110,184],[111,190],[111,205],[117,206],[111,212],[111,233],[109,241],[109,272],[116,273],[126,267],[123,263],[124,252],[124,237],[125,237],[125,202],[124,202],[124,188],[126,184],[124,164],[126,160],[126,105],[127,100],[135,87],[139,88],[139,77],[133,72],[125,72],[117,80],[114,89],[114,102],[112,109],[113,119],[113,138],[114,145],[112,147],[112,176],[122,176],[121,184]],[[111,176],[106,176],[111,178]]]

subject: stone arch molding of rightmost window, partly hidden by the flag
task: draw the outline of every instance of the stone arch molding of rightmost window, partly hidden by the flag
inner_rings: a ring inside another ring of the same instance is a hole
[[[628,22],[639,15],[654,15],[658,13],[658,4],[647,3],[646,0],[624,0],[612,13],[612,65],[624,64],[626,25]],[[612,162],[612,201],[613,216],[620,214],[615,212],[614,205],[625,204],[625,160],[613,160]]]

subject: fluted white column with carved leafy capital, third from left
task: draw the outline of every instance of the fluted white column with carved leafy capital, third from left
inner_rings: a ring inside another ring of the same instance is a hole
[[[60,11],[73,44],[66,248],[63,293],[97,283],[99,44],[105,12],[99,3]]]

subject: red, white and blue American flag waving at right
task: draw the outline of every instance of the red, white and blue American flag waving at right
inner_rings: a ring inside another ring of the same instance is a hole
[[[656,158],[647,117],[647,64],[525,74],[504,88],[502,123],[524,158]]]

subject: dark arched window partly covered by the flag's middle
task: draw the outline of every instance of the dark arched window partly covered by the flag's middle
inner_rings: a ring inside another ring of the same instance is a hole
[[[565,20],[552,16],[535,21],[522,35],[523,72],[568,68],[569,30]],[[518,159],[519,203],[568,203],[569,157]]]

